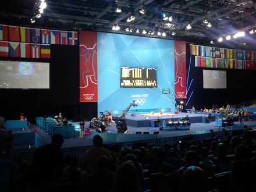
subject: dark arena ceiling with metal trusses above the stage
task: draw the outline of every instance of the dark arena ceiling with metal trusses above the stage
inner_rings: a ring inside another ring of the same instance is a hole
[[[39,0],[9,0],[1,3],[1,23],[44,29],[142,35],[198,44],[209,44],[223,34],[233,35],[239,30],[246,30],[248,34],[249,30],[256,29],[255,0],[45,0],[47,8],[44,13],[39,19],[35,19],[35,23],[31,23],[36,1]],[[116,6],[122,12],[115,12]],[[139,13],[140,9],[145,10],[144,15]],[[172,22],[163,20],[163,13],[172,16]],[[127,22],[130,16],[135,19]],[[203,23],[205,19],[212,27]],[[189,23],[192,28],[186,30]],[[112,30],[115,24],[119,25],[119,31]],[[133,32],[126,31],[127,28],[130,31],[133,29]],[[140,33],[136,33],[136,29]],[[147,34],[142,34],[142,30],[146,30]],[[165,32],[166,36],[148,34],[150,31]],[[248,47],[256,47],[254,39],[253,34],[250,37],[237,38],[236,43],[230,41],[228,44],[237,46],[246,42]]]

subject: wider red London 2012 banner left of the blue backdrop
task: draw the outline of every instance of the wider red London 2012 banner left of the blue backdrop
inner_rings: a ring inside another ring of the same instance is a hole
[[[80,102],[97,102],[97,33],[79,31],[79,48]]]

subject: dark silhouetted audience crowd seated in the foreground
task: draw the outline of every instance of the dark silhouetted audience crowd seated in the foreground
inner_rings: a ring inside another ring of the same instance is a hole
[[[256,141],[250,130],[241,132],[160,147],[139,143],[119,153],[96,135],[83,159],[63,157],[56,134],[31,164],[20,163],[10,191],[255,191]]]

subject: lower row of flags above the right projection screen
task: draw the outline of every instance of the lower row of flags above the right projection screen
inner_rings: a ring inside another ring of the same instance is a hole
[[[195,56],[195,67],[256,70],[255,63],[256,62],[252,60],[208,58],[205,56]]]

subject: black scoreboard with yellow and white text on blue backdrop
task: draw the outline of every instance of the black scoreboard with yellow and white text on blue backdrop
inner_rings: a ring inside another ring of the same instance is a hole
[[[157,88],[157,69],[154,67],[121,67],[120,87]]]

